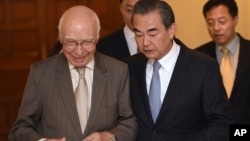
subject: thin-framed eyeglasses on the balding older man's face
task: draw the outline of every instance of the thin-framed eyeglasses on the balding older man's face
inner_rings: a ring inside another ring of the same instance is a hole
[[[94,45],[96,44],[96,40],[83,40],[81,42],[77,42],[71,39],[64,39],[62,40],[62,44],[69,49],[75,49],[77,46],[80,45],[85,50],[88,50],[94,47]]]

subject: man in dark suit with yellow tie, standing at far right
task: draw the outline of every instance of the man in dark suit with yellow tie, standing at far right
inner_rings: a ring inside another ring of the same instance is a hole
[[[250,124],[250,41],[235,32],[238,7],[234,0],[208,1],[203,7],[209,35],[213,39],[197,48],[221,64],[221,48],[228,48],[234,82],[228,98],[237,124]]]

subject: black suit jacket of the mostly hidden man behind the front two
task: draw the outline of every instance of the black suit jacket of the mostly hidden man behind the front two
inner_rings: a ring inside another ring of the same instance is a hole
[[[123,28],[100,39],[96,48],[99,52],[118,60],[130,56]]]

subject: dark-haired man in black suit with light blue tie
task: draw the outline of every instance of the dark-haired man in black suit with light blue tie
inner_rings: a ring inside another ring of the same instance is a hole
[[[141,53],[125,61],[137,141],[228,141],[231,113],[217,62],[173,40],[174,13],[164,1],[137,2],[132,24]]]

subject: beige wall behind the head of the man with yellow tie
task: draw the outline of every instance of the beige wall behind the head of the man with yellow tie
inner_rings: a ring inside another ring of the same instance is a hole
[[[176,37],[190,48],[195,48],[211,38],[202,15],[207,0],[165,0],[173,8],[176,18]],[[250,0],[236,0],[239,8],[239,23],[236,31],[250,39]]]

